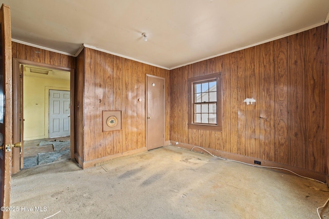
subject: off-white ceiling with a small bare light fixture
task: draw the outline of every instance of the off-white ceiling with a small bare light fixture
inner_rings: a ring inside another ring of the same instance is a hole
[[[2,0],[15,42],[172,69],[328,22],[328,0]],[[142,33],[147,33],[144,42]]]

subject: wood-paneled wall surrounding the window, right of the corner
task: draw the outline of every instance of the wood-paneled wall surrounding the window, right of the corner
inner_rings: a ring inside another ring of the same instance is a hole
[[[171,70],[170,139],[324,173],[326,35],[323,25]],[[223,131],[189,130],[187,80],[215,72]]]

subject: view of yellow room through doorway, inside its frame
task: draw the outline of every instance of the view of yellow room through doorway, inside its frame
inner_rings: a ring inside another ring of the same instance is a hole
[[[23,68],[23,169],[70,158],[70,72]]]

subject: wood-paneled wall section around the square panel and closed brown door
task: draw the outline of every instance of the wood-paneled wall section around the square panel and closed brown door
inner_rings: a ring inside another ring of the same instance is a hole
[[[83,162],[145,148],[147,74],[166,79],[165,137],[170,139],[169,70],[84,48],[77,71],[77,155]],[[112,110],[122,111],[122,130],[103,132],[102,111]]]

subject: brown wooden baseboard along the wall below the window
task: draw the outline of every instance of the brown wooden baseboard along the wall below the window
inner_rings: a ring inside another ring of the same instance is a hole
[[[191,150],[193,147],[197,146],[197,145],[192,145],[192,144],[187,144],[187,143],[180,143],[177,141],[171,141],[172,145],[175,145],[176,147],[179,148],[185,148],[188,150]],[[248,157],[248,156],[244,156],[244,155],[239,155],[239,154],[232,154],[232,153],[228,153],[228,152],[224,152],[224,151],[218,151],[215,149],[208,149],[205,148],[205,150],[209,151],[211,154],[218,156],[218,157],[223,157],[226,159],[230,159],[230,160],[235,160],[235,161],[240,161],[240,162],[245,162],[245,163],[249,163],[254,165],[254,160],[257,161],[261,161],[262,165],[260,165],[260,167],[276,167],[276,168],[284,168],[290,171],[293,171],[301,176],[305,176],[308,178],[312,178],[312,179],[316,179],[322,182],[327,182],[327,176],[324,173],[319,173],[319,172],[315,172],[315,171],[311,171],[311,170],[305,170],[302,168],[298,168],[298,167],[293,167],[293,166],[289,166],[289,165],[284,165],[282,163],[277,163],[274,161],[268,161],[268,160],[263,160],[260,158],[255,158],[255,157]],[[195,152],[202,152],[202,153],[207,153],[202,149],[198,149],[198,148],[194,148],[193,151]],[[288,171],[285,170],[280,170],[280,169],[276,169],[282,172],[286,172],[289,174],[292,174]]]

